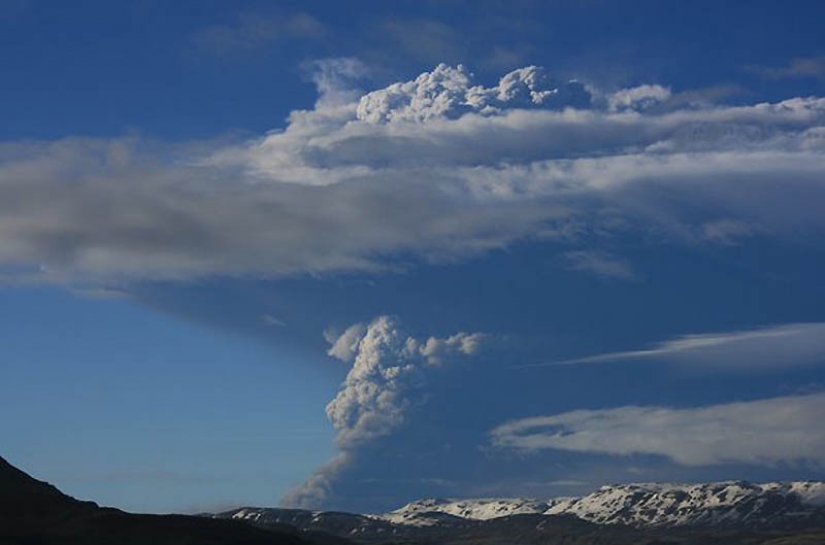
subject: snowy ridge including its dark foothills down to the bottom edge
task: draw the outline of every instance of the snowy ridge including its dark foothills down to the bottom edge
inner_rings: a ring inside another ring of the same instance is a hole
[[[244,507],[214,517],[369,544],[825,545],[825,483],[626,484],[579,498],[426,499],[378,515]]]

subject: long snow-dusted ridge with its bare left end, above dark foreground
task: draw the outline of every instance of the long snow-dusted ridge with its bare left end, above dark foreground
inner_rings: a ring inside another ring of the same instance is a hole
[[[580,521],[639,530],[795,530],[825,527],[825,483],[623,484],[578,498],[424,499],[383,514],[244,507],[215,515],[259,525],[288,524],[361,542],[445,539],[466,532]],[[510,530],[508,530],[510,531]]]

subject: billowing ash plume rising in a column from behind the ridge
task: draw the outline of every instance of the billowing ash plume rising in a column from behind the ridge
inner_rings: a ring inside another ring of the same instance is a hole
[[[335,482],[354,463],[359,450],[395,432],[414,407],[426,401],[429,369],[477,353],[484,340],[479,333],[457,333],[420,341],[388,316],[355,324],[337,339],[329,333],[326,336],[332,344],[331,356],[353,362],[326,408],[341,452],[291,491],[282,500],[285,506],[315,508],[329,501]]]

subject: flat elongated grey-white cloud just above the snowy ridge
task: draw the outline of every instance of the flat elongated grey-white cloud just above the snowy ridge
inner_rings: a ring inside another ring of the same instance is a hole
[[[825,394],[708,407],[617,407],[526,418],[491,432],[506,450],[665,456],[685,466],[825,464]]]

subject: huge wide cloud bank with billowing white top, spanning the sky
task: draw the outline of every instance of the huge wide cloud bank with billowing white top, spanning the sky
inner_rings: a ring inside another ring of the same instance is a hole
[[[660,111],[638,105],[664,88],[591,101],[537,67],[485,87],[439,65],[366,94],[357,61],[309,70],[316,105],[247,141],[0,144],[3,280],[377,273],[571,231],[825,233],[822,98]]]

